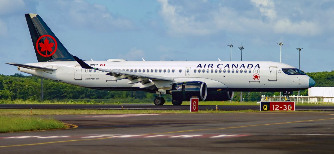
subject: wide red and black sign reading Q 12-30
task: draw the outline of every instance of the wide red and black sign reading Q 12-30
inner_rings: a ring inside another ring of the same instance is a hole
[[[261,111],[295,111],[295,102],[261,102]]]

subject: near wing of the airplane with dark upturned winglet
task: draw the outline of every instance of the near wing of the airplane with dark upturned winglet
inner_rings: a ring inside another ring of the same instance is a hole
[[[76,56],[73,56],[73,58],[80,64],[82,68],[85,69],[95,69],[100,71],[109,72],[107,75],[114,76],[112,80],[121,80],[121,79],[128,79],[130,82],[128,84],[133,83],[141,83],[142,86],[140,88],[150,88],[154,89],[156,88],[153,81],[174,81],[173,78],[170,77],[163,77],[163,76],[156,76],[156,75],[149,75],[144,73],[137,73],[137,72],[130,72],[130,71],[123,71],[119,69],[102,69],[102,68],[93,68],[89,66],[87,63],[83,62],[81,59],[79,59]]]

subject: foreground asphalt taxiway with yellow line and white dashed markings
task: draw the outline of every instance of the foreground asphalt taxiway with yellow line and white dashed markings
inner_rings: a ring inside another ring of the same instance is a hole
[[[77,128],[0,134],[6,153],[332,153],[334,112],[56,115]]]

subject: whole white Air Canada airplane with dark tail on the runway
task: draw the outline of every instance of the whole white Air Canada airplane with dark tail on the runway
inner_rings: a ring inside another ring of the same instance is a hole
[[[181,105],[192,97],[227,101],[234,91],[298,91],[315,85],[299,69],[271,61],[86,61],[70,54],[37,14],[25,14],[38,63],[17,64],[18,71],[100,90],[156,93],[155,105]]]

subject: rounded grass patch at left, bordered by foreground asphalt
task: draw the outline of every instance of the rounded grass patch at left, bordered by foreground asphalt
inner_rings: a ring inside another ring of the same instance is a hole
[[[0,133],[30,130],[49,130],[66,126],[54,118],[34,116],[0,115]]]

